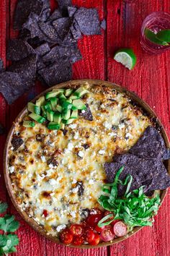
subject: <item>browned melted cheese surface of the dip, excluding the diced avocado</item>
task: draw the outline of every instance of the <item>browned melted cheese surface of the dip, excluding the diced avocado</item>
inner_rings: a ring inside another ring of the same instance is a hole
[[[109,88],[90,88],[84,103],[89,104],[93,121],[79,116],[66,127],[66,135],[43,124],[34,128],[16,124],[14,134],[24,144],[17,152],[9,149],[9,173],[18,204],[53,236],[65,224],[79,223],[84,208],[99,207],[104,163],[132,147],[151,124],[125,94]],[[38,142],[36,135],[44,135],[44,140]],[[58,166],[50,163],[51,158]]]

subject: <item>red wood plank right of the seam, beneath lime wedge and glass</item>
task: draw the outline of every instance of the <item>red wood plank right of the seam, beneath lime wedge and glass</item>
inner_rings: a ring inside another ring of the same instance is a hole
[[[107,61],[108,80],[133,90],[158,114],[170,137],[169,112],[169,51],[150,56],[140,47],[140,27],[151,12],[170,9],[169,1],[107,1]],[[138,62],[132,71],[113,60],[120,47],[133,48]],[[145,227],[130,239],[110,247],[110,255],[169,255],[169,195],[166,196],[153,227]]]

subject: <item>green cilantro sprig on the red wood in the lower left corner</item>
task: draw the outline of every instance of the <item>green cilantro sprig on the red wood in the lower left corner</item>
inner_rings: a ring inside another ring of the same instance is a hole
[[[0,202],[0,214],[8,208],[6,202]],[[19,222],[14,220],[14,216],[4,214],[0,218],[0,255],[8,255],[10,252],[17,252],[15,246],[19,244],[17,234],[12,234],[19,228]]]

